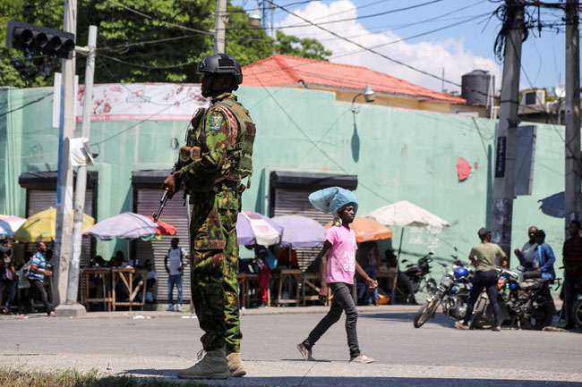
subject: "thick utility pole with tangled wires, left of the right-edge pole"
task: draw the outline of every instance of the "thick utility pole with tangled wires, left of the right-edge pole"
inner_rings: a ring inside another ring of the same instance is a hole
[[[505,0],[513,20],[505,37],[503,79],[497,143],[495,147],[495,180],[493,181],[492,241],[511,257],[511,222],[513,218],[513,186],[518,135],[519,71],[524,28],[524,0]],[[509,263],[508,263],[509,264]]]

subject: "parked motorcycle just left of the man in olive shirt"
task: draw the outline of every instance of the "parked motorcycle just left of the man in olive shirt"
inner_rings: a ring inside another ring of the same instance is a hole
[[[453,264],[453,270],[450,271],[449,265],[440,264],[445,268],[445,275],[416,313],[415,328],[420,328],[434,316],[439,305],[445,315],[458,320],[465,318],[473,275],[463,262],[456,260]]]

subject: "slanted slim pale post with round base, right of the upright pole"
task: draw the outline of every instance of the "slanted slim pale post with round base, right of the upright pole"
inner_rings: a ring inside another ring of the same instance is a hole
[[[89,26],[89,38],[87,47],[78,51],[86,51],[87,63],[85,64],[85,92],[83,97],[83,122],[81,137],[90,138],[91,104],[93,95],[93,77],[95,74],[95,47],[97,46],[97,27]],[[77,170],[77,183],[75,185],[74,220],[73,220],[73,257],[69,265],[69,286],[67,287],[66,307],[70,314],[76,317],[85,315],[85,307],[77,303],[79,291],[79,262],[81,261],[82,225],[85,212],[85,192],[87,190],[87,165],[80,165]]]

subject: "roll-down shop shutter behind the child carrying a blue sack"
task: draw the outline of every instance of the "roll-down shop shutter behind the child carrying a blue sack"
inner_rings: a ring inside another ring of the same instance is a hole
[[[330,214],[323,214],[313,208],[309,202],[309,194],[313,189],[275,189],[274,216],[280,215],[301,215],[312,218],[321,225],[329,223],[333,217]],[[321,246],[317,248],[295,248],[297,252],[297,263],[299,268],[304,270],[317,257],[321,251]]]

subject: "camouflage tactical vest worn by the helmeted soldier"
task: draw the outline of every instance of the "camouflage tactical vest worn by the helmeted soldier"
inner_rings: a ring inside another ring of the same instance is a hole
[[[223,108],[229,110],[235,116],[236,122],[238,123],[238,134],[235,144],[228,146],[227,160],[222,165],[222,169],[211,185],[214,186],[219,181],[230,179],[234,175],[238,181],[248,177],[247,187],[250,187],[252,175],[252,143],[254,142],[256,134],[254,123],[249,116],[248,110],[236,102],[234,98],[226,98],[217,102],[215,105],[223,106]],[[191,122],[192,127],[186,134],[186,146],[180,149],[179,160],[181,166],[190,164],[201,157],[201,147],[199,147],[198,139],[200,138],[201,131],[204,129],[207,113],[207,109],[200,108],[194,114]],[[190,180],[189,178],[186,179]],[[210,181],[204,181],[204,183],[201,181],[192,181],[192,183],[192,187],[197,187],[202,190],[205,189],[201,186],[210,185]],[[191,184],[188,184],[188,181],[184,181],[184,185],[188,187]]]

